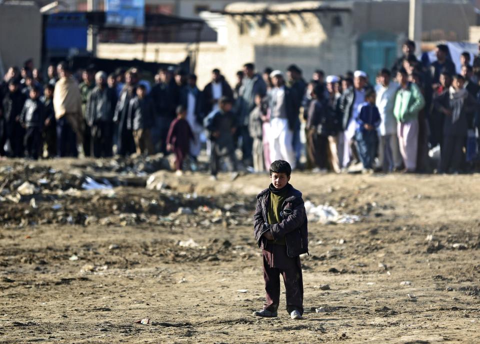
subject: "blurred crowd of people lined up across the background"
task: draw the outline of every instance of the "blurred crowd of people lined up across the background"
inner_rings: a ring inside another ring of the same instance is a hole
[[[445,45],[433,63],[415,57],[412,41],[402,51],[375,85],[363,71],[316,70],[307,83],[296,65],[258,73],[247,63],[233,87],[214,69],[203,90],[180,68],[161,68],[150,84],[137,68],[72,73],[64,62],[43,78],[29,60],[9,68],[0,85],[0,156],[173,153],[181,174],[197,169],[205,147],[212,178],[224,166],[263,172],[275,160],[335,173],[357,163],[365,173],[474,170],[480,57],[470,64],[463,53],[456,74]],[[438,165],[429,156],[435,147]]]

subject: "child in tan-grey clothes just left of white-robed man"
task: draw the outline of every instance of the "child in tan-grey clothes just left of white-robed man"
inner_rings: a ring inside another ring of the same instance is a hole
[[[248,119],[248,132],[253,139],[252,156],[253,156],[253,170],[255,172],[263,172],[263,121],[264,111],[262,107],[262,97],[260,94],[255,95],[255,108],[250,112]]]

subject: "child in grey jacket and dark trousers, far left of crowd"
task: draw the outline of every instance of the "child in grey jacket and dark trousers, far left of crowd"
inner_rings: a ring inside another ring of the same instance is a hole
[[[38,86],[31,86],[29,99],[25,101],[20,115],[20,123],[25,128],[23,146],[25,156],[30,159],[38,159],[41,153],[41,130],[43,127],[44,108],[40,101],[40,89]]]

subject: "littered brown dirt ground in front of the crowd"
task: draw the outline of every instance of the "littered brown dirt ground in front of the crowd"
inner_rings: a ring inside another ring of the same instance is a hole
[[[101,173],[113,189],[82,190]],[[157,177],[147,190],[148,174],[89,162],[0,163],[0,342],[480,342],[478,175],[294,173],[305,200],[361,219],[309,223],[296,321],[283,292],[278,318],[250,315],[267,175]]]

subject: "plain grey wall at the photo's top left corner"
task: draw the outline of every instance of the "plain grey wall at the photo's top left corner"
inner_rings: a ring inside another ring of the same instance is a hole
[[[35,5],[0,5],[0,57],[3,67],[40,64],[41,16]]]

